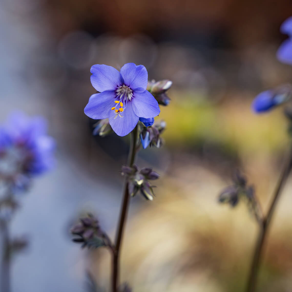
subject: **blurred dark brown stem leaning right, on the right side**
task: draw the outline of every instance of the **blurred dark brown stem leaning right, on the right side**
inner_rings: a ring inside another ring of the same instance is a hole
[[[253,260],[251,263],[251,269],[250,269],[250,273],[248,277],[246,292],[254,292],[256,289],[256,281],[257,281],[258,270],[259,270],[258,268],[259,268],[260,259],[263,253],[263,246],[264,246],[264,242],[267,236],[267,230],[270,226],[272,216],[274,214],[275,208],[277,206],[277,202],[279,201],[279,198],[281,195],[281,191],[287,181],[287,178],[291,172],[291,169],[292,169],[292,149],[291,149],[290,157],[287,160],[287,164],[285,165],[281,173],[281,176],[279,178],[279,181],[277,183],[276,189],[274,191],[273,200],[269,207],[267,215],[263,219],[262,225],[260,225],[260,232],[258,234],[256,248],[253,254]]]

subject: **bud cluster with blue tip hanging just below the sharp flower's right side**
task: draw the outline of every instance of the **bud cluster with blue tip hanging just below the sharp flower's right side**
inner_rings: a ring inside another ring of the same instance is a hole
[[[150,145],[150,147],[154,146],[159,148],[163,145],[163,139],[160,135],[164,132],[165,128],[165,121],[155,122],[151,127],[143,127],[140,131],[140,140],[143,148],[147,148],[148,145]]]

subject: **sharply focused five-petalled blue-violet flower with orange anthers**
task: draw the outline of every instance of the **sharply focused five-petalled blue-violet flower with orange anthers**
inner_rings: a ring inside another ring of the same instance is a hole
[[[107,65],[91,67],[91,84],[99,92],[91,95],[84,113],[92,119],[109,119],[119,136],[130,133],[139,118],[160,113],[158,102],[147,88],[148,73],[143,65],[127,63],[119,72]]]

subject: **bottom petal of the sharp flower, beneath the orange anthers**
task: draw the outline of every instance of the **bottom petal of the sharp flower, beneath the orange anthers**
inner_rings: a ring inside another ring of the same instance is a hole
[[[127,108],[121,113],[121,115],[123,116],[122,118],[117,116],[117,118],[114,119],[116,113],[111,112],[109,114],[109,124],[117,135],[126,136],[135,128],[139,117],[135,115],[131,102],[128,102]]]

